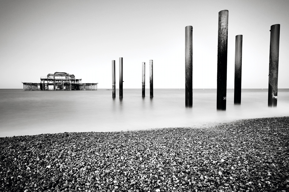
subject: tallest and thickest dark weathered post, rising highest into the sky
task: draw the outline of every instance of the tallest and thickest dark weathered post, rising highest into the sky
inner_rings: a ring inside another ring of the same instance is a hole
[[[228,10],[219,12],[217,109],[221,110],[226,110],[227,99],[228,16]]]

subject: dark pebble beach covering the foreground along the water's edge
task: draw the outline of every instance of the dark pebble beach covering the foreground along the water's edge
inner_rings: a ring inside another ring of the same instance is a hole
[[[0,191],[289,191],[289,117],[0,138]]]

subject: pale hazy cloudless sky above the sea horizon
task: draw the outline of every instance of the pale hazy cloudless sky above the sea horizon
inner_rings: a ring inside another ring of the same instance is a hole
[[[242,88],[268,88],[270,26],[280,24],[278,88],[289,88],[289,1],[0,0],[0,88],[68,72],[111,88],[111,60],[124,89],[185,88],[185,27],[193,26],[193,88],[217,87],[218,12],[229,10],[227,88],[234,88],[235,36],[243,35]]]

